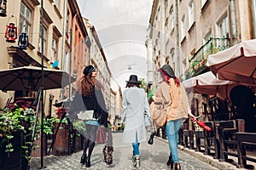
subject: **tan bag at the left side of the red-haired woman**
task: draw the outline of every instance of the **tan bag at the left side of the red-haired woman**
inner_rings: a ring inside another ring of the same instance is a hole
[[[155,105],[154,102],[150,104],[150,112],[152,114],[153,126],[164,127],[167,121],[167,111],[165,105]]]

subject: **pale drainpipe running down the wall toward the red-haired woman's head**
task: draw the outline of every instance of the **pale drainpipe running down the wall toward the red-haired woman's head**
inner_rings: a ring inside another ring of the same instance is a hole
[[[178,47],[178,43],[179,43],[179,34],[178,34],[178,11],[177,11],[177,0],[174,1],[174,20],[175,20],[175,54],[176,54],[176,61],[175,61],[175,72],[176,72],[176,76],[179,77],[180,75],[180,62],[179,62],[179,47]],[[173,61],[172,61],[173,62]]]

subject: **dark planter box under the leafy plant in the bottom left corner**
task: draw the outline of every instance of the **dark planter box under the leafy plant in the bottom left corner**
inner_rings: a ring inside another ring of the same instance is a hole
[[[0,169],[1,170],[17,170],[21,169],[21,143],[22,134],[14,133],[14,138],[11,139],[14,151],[5,152],[6,143],[3,142],[3,137],[0,138]]]

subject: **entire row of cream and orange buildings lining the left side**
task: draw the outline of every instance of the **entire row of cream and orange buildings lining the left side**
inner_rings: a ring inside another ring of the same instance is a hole
[[[44,8],[43,26],[40,26],[41,8]],[[24,32],[29,43],[27,49],[21,49],[18,39],[15,42],[6,42],[3,33],[0,39],[1,70],[27,65],[40,67],[43,56],[45,68],[52,68],[54,64],[52,69],[67,71],[71,77],[77,77],[78,81],[83,76],[84,66],[94,65],[98,68],[98,80],[102,82],[104,98],[109,109],[111,72],[108,62],[96,29],[84,22],[76,1],[8,1],[6,11],[7,16],[0,18],[0,28],[4,32],[9,23],[15,23],[17,37]],[[54,101],[72,99],[76,88],[76,83],[73,82],[60,89],[44,90],[46,115],[55,112],[55,107],[51,107]],[[27,93],[20,95],[27,97]],[[19,96],[15,96],[14,91],[1,92],[0,108],[4,107],[8,99],[14,100],[16,97]]]

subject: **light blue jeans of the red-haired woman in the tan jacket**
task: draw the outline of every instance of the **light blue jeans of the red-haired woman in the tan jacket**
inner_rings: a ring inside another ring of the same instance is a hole
[[[166,135],[168,138],[170,156],[172,154],[172,160],[174,163],[178,162],[177,158],[177,133],[181,124],[183,123],[183,118],[177,119],[175,121],[169,121],[166,123]]]

